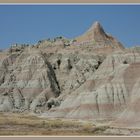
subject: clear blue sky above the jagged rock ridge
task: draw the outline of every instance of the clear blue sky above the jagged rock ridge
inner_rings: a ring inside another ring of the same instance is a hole
[[[140,5],[0,5],[0,49],[84,33],[95,21],[124,46],[140,45]]]

